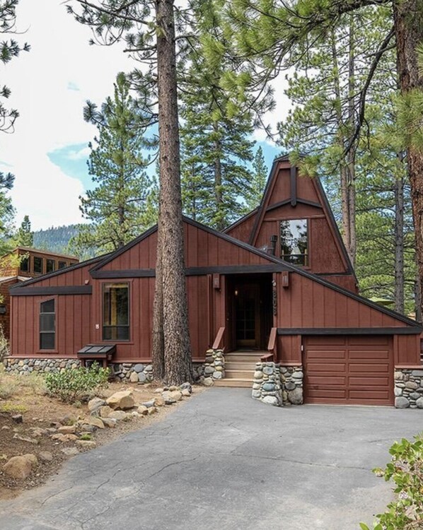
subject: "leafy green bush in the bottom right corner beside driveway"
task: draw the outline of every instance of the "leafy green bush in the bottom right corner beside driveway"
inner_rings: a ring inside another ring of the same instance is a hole
[[[423,528],[423,435],[414,442],[395,442],[389,449],[392,460],[386,469],[373,472],[386,481],[395,482],[396,499],[390,502],[386,512],[378,514],[373,530],[414,530]],[[370,530],[360,523],[361,530]]]

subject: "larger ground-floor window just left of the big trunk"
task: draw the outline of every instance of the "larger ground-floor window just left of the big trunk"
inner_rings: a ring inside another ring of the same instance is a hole
[[[103,340],[129,341],[128,283],[103,283]]]

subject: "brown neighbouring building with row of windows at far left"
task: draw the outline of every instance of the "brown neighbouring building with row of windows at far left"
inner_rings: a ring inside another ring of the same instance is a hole
[[[13,259],[13,257],[21,259]],[[65,254],[55,254],[47,250],[16,247],[10,254],[0,259],[0,325],[4,336],[10,337],[10,295],[12,285],[42,276],[42,274],[64,269],[79,263],[79,259]]]

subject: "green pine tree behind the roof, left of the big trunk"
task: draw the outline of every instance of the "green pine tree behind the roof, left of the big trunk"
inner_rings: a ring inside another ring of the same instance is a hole
[[[84,117],[98,129],[88,160],[96,187],[80,197],[81,212],[90,224],[81,225],[72,245],[78,252],[110,252],[148,228],[144,208],[150,181],[141,154],[146,142],[124,73],[117,75],[114,95],[101,111],[88,102]]]

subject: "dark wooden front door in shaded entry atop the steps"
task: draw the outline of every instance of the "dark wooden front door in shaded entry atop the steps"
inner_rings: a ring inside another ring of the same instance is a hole
[[[240,283],[235,288],[236,348],[260,348],[260,285]]]

